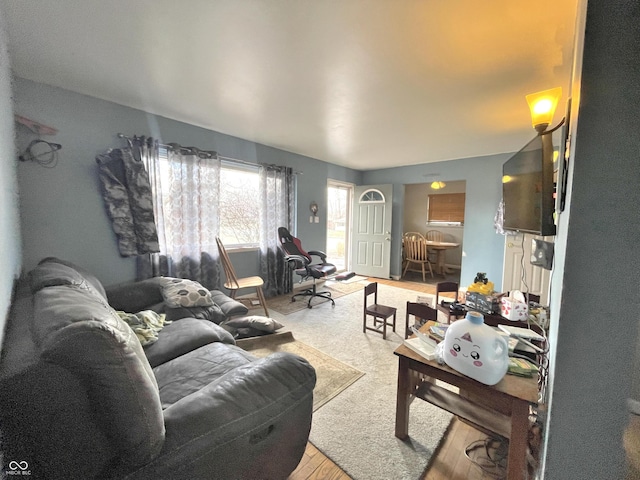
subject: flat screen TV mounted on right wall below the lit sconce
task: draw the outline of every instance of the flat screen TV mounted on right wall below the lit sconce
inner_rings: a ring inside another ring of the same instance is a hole
[[[538,135],[502,167],[503,228],[555,235],[554,188],[551,134]]]

